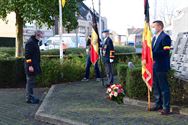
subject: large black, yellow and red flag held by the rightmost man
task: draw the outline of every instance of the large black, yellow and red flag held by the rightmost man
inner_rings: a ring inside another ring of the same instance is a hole
[[[149,26],[149,3],[144,0],[145,23],[142,38],[142,78],[148,89],[152,91],[153,84],[153,56],[152,56],[152,33]]]

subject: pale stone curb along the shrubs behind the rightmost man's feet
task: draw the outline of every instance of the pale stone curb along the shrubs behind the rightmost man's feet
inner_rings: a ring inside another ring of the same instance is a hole
[[[140,101],[136,99],[130,99],[128,97],[123,98],[123,103],[127,105],[134,105],[134,106],[139,106],[139,107],[144,107],[144,108],[148,107],[148,102]],[[151,105],[154,105],[154,103],[151,102]],[[188,115],[188,112],[185,111],[185,108],[181,108],[180,106],[172,105],[170,110],[175,114]]]

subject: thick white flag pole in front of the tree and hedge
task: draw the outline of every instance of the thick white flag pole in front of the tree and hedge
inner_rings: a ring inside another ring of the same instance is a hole
[[[59,36],[60,36],[60,60],[63,62],[63,42],[62,42],[62,0],[59,0]]]

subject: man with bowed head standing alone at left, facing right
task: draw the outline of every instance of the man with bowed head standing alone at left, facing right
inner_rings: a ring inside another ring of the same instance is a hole
[[[42,37],[43,32],[38,30],[25,45],[26,102],[31,104],[39,103],[33,88],[36,76],[41,73],[39,42]]]

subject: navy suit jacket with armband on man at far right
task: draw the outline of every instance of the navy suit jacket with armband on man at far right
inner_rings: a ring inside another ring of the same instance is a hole
[[[153,69],[156,72],[167,72],[170,69],[170,36],[162,31],[154,45],[155,39],[152,40]]]

